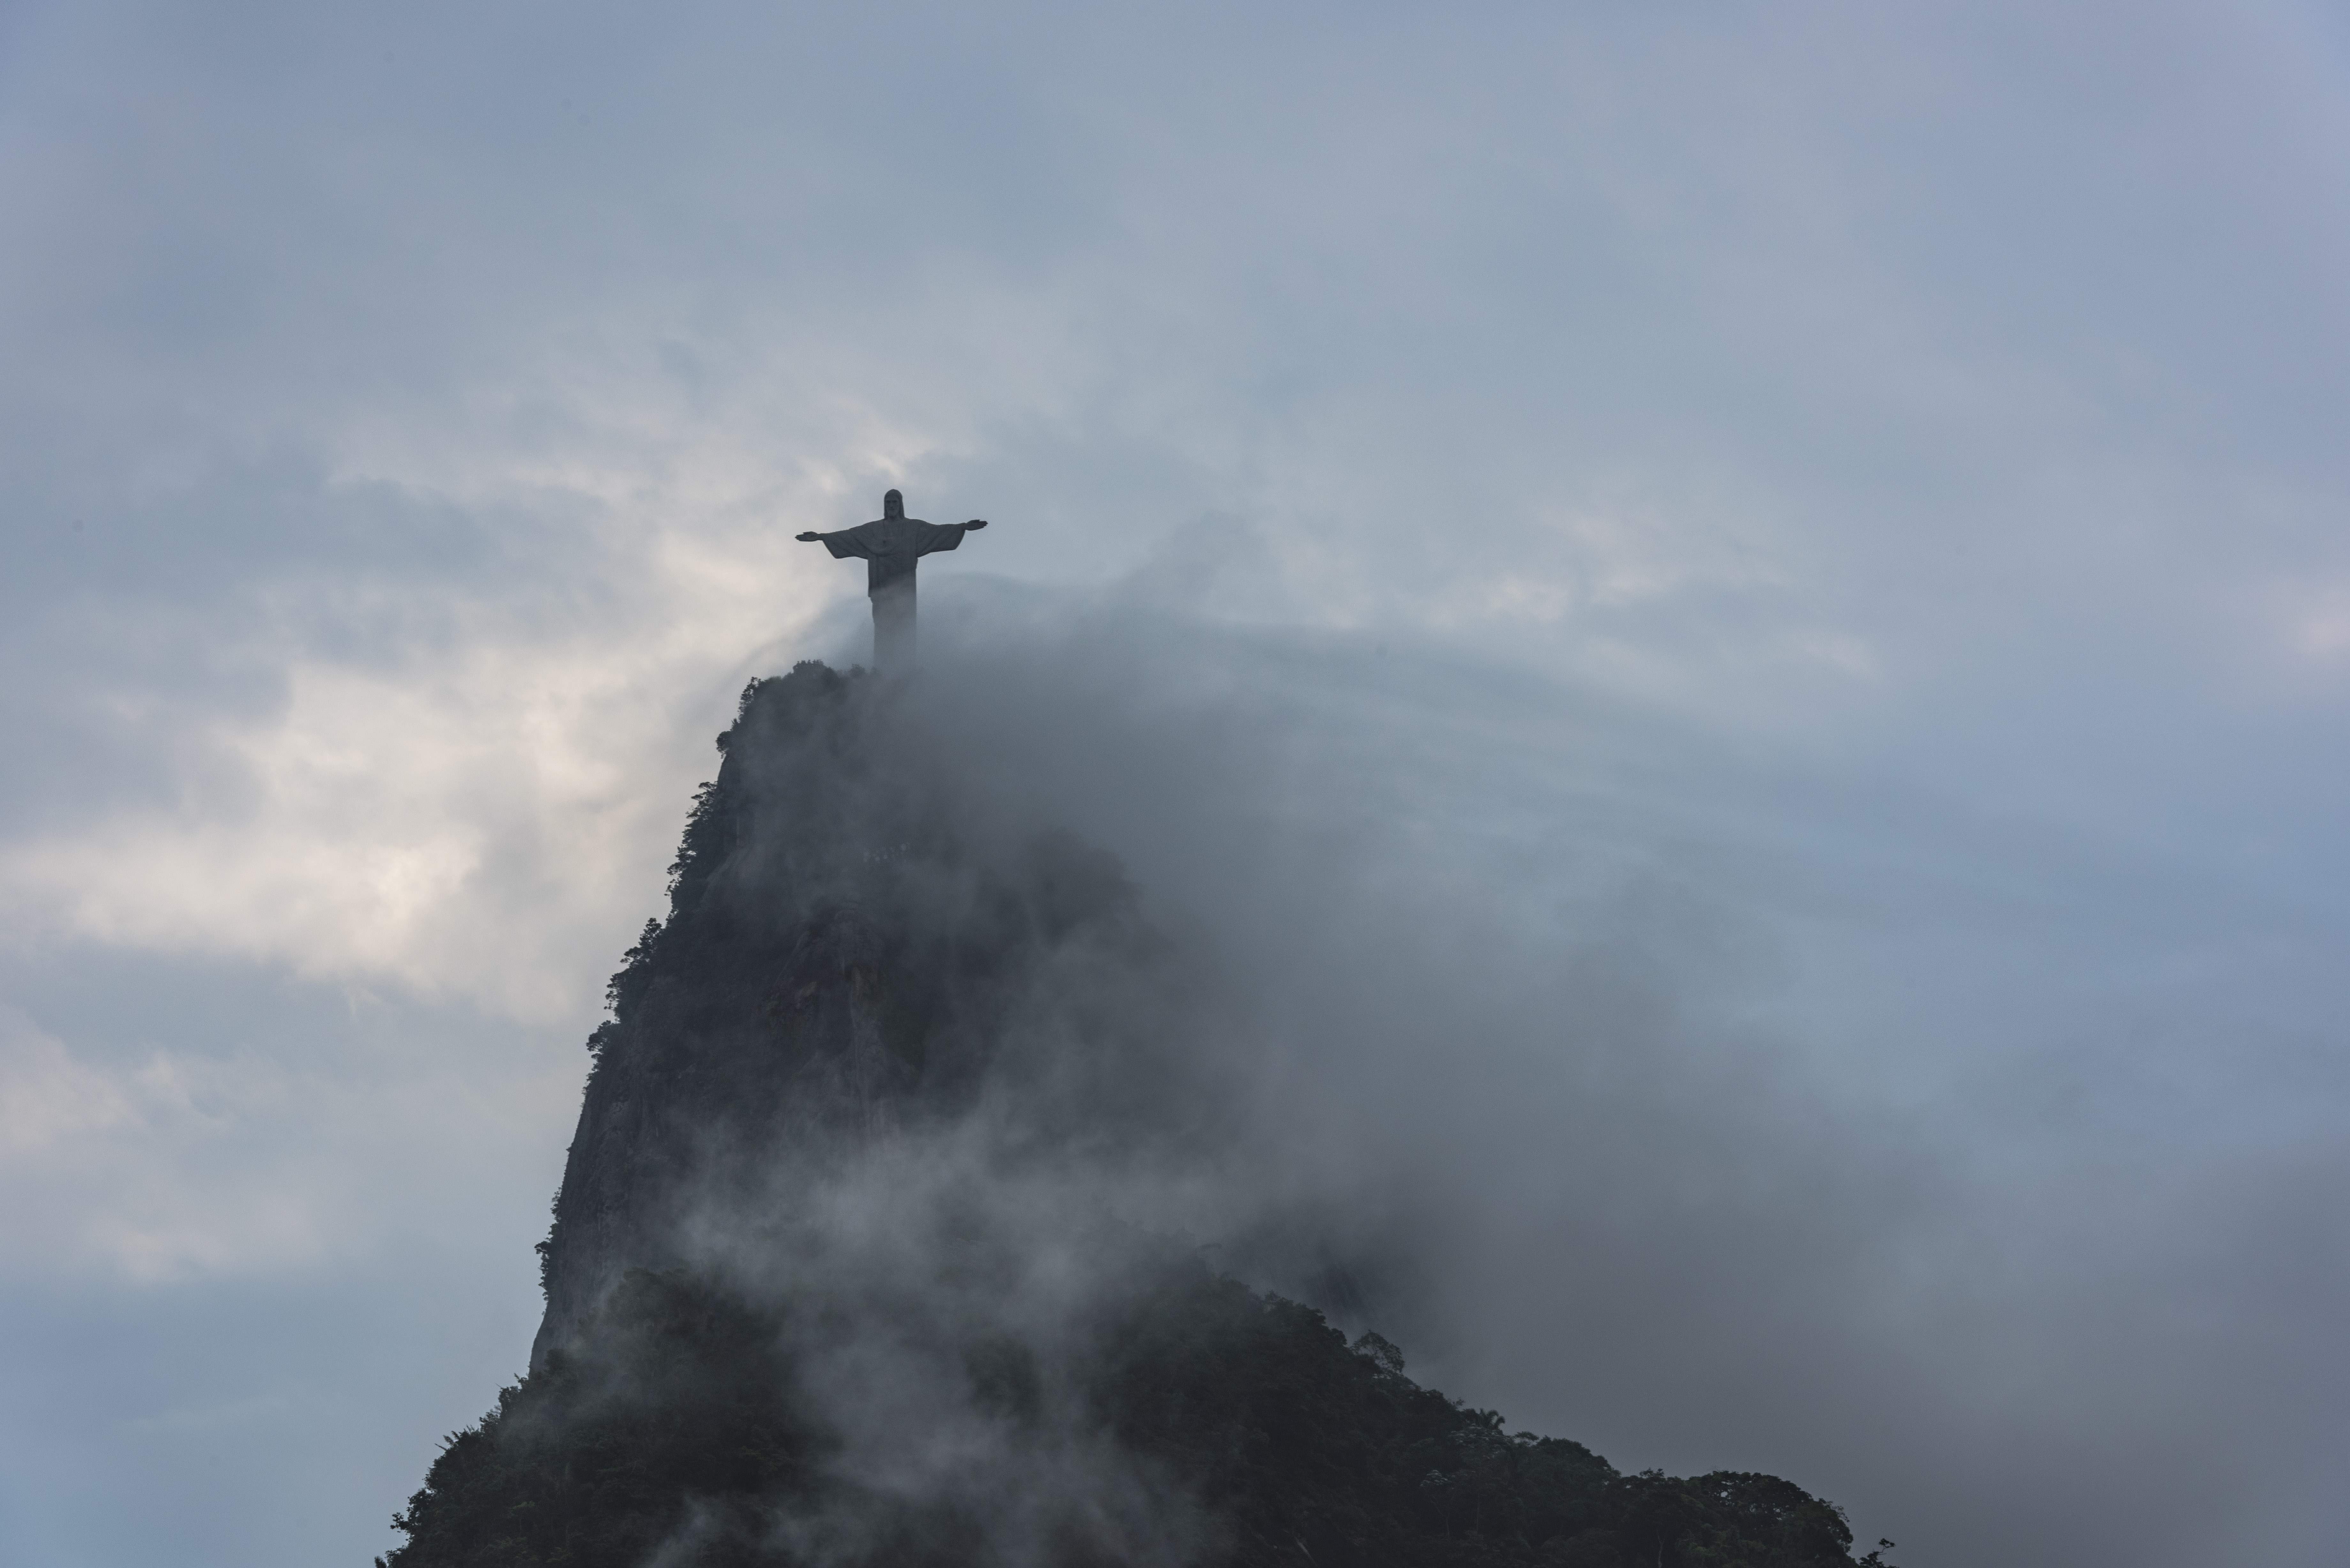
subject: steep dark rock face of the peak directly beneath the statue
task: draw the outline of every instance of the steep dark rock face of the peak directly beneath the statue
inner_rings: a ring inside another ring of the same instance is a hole
[[[576,1335],[632,1267],[691,1262],[874,1140],[992,1110],[1112,1138],[1163,1095],[1152,938],[1109,856],[989,832],[862,672],[754,682],[672,865],[670,917],[613,976],[540,1246]]]

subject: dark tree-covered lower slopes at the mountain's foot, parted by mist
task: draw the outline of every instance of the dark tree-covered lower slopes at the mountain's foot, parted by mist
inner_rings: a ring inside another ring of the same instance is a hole
[[[848,1561],[945,1566],[971,1500],[874,1495],[827,1469],[834,1436],[792,1396],[790,1309],[684,1274],[632,1274],[595,1331],[454,1434],[395,1526],[388,1568],[841,1561],[778,1521],[860,1519]],[[978,1338],[966,1396],[1015,1432],[1046,1415],[1034,1352]],[[1511,1434],[1354,1347],[1297,1302],[1166,1253],[1083,1352],[1090,1436],[1203,1505],[1210,1561],[1295,1568],[1826,1568],[1838,1509],[1760,1474],[1617,1474],[1589,1448]],[[660,1552],[667,1544],[667,1552]],[[1081,1530],[1050,1554],[1116,1561]],[[1878,1554],[1859,1559],[1878,1563]]]

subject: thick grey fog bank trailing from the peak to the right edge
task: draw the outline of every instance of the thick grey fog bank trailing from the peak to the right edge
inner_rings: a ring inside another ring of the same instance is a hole
[[[1166,938],[1220,1091],[1187,1114],[1227,1124],[1133,1218],[1516,1425],[1793,1476],[1927,1568],[2308,1561],[2341,1523],[2308,910],[1133,607],[949,604],[900,703],[975,832],[1104,846]]]

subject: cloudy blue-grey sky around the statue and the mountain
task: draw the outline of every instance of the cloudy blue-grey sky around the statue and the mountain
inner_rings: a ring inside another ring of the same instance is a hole
[[[1152,625],[1485,910],[1441,1067],[1323,999],[1417,1375],[2338,1561],[2345,280],[2319,5],[0,2],[5,1556],[390,1544],[898,484],[940,646]]]

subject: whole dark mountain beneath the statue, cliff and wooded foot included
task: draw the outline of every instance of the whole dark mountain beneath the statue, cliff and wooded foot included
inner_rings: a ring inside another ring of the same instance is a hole
[[[1788,1481],[1511,1434],[1159,1225],[1295,1234],[1119,863],[968,799],[905,689],[799,665],[719,750],[590,1041],[531,1371],[378,1563],[1854,1561]]]

